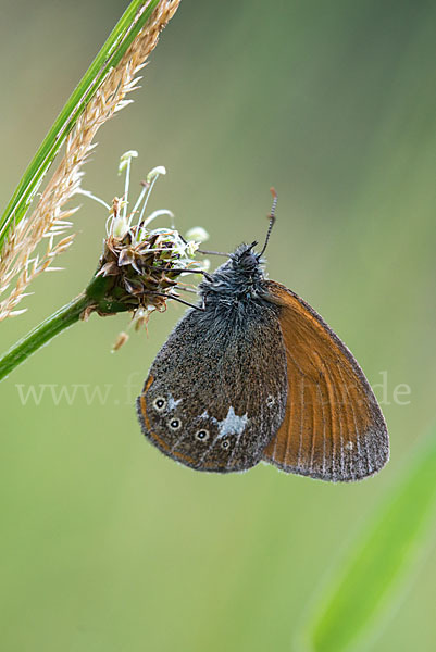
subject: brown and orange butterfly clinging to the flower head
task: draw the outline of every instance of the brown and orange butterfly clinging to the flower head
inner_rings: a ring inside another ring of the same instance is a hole
[[[274,192],[273,192],[274,195]],[[137,399],[147,439],[216,473],[259,462],[322,480],[360,480],[389,457],[387,427],[358,362],[324,319],[241,244],[199,285]]]

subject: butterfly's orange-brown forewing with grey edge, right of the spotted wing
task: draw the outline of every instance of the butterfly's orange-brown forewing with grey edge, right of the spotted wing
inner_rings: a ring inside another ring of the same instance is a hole
[[[351,352],[322,317],[284,286],[267,281],[281,306],[288,375],[285,418],[263,460],[287,473],[359,480],[389,457],[382,411]]]

